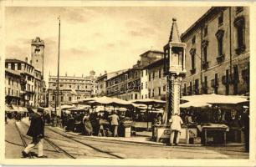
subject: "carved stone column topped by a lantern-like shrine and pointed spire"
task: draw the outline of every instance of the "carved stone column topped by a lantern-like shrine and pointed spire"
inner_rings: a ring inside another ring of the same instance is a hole
[[[180,113],[180,89],[182,77],[186,74],[185,48],[177,30],[177,19],[172,18],[172,31],[169,42],[164,46],[164,73],[167,77],[167,113]]]

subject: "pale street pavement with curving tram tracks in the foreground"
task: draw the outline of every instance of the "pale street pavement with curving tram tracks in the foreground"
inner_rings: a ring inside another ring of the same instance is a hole
[[[8,120],[5,136],[5,156],[7,159],[21,158],[23,142],[18,129],[27,144],[31,138],[26,136],[28,125]],[[162,144],[143,144],[128,141],[91,138],[66,133],[61,129],[45,127],[44,154],[52,159],[69,159],[66,153],[76,159],[248,159],[243,146],[166,146]],[[37,148],[33,149],[37,153]],[[65,153],[66,152],[66,153]],[[33,156],[33,158],[36,158]]]

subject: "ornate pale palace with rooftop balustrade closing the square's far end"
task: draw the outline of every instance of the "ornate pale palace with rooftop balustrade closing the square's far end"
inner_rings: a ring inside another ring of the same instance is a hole
[[[98,84],[95,82],[95,73],[90,76],[59,76],[59,104],[72,104],[77,99],[94,97],[97,94]],[[48,99],[49,105],[56,103],[57,76],[49,76]]]

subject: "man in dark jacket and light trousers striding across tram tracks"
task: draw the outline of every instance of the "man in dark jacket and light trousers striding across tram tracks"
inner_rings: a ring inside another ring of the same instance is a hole
[[[47,158],[44,155],[44,110],[38,109],[37,113],[31,115],[31,123],[27,135],[31,136],[32,142],[22,151],[23,157],[28,157],[28,153],[38,144],[38,158]]]

